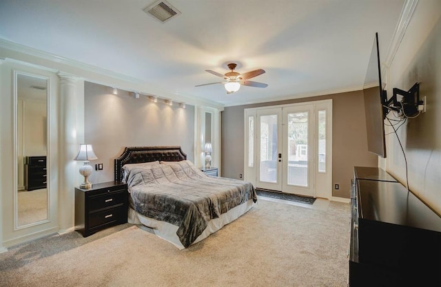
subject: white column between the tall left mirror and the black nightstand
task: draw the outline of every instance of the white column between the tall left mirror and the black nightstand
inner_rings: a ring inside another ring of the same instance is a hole
[[[74,230],[74,187],[79,175],[74,157],[78,152],[77,108],[78,77],[59,72],[59,233]],[[81,130],[83,130],[81,128]]]

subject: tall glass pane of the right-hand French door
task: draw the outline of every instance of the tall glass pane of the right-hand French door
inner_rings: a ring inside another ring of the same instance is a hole
[[[308,119],[309,112],[287,115],[288,178],[287,184],[308,186]]]

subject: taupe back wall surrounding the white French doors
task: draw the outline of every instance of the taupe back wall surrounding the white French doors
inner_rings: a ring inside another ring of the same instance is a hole
[[[244,161],[244,109],[332,99],[332,195],[350,197],[353,166],[378,166],[378,157],[367,151],[362,91],[320,97],[226,107],[222,112],[222,176],[239,179]],[[339,184],[340,189],[334,189]]]

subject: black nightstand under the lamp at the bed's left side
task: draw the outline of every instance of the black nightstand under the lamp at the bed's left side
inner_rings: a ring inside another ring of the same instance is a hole
[[[75,230],[88,237],[127,222],[127,184],[117,181],[75,188]]]

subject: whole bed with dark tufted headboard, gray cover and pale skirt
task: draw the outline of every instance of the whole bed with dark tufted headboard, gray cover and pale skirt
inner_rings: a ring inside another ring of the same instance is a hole
[[[251,183],[205,175],[180,146],[127,147],[115,159],[114,175],[128,186],[128,221],[153,228],[180,249],[234,221],[257,201]]]

